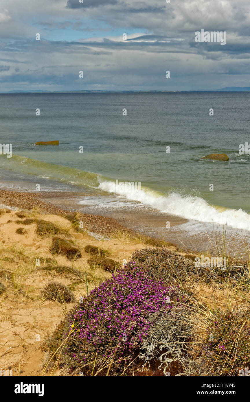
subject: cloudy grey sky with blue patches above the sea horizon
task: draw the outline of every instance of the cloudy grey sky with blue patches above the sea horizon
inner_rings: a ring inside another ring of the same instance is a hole
[[[0,92],[250,86],[250,1],[168,1],[1,0]]]

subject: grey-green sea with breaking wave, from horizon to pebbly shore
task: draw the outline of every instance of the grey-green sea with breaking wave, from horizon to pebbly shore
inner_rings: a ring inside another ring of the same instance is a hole
[[[0,188],[44,192],[188,250],[242,252],[249,126],[250,92],[0,94],[0,142],[12,145]],[[202,159],[212,153],[229,160]]]

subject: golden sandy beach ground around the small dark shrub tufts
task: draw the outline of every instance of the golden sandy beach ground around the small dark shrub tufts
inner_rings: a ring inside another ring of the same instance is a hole
[[[145,245],[129,238],[110,238],[115,231],[123,228],[105,217],[82,215],[80,219],[84,221],[85,230],[83,233],[75,232],[71,223],[63,217],[70,211],[40,201],[32,194],[1,191],[0,203],[6,206],[3,209],[1,205],[0,215],[0,282],[5,287],[5,291],[0,294],[0,364],[2,369],[11,369],[13,376],[40,375],[44,357],[40,345],[65,315],[64,308],[55,301],[41,303],[41,289],[46,283],[55,280],[69,285],[76,281],[77,276],[73,272],[56,271],[57,266],[72,267],[72,262],[61,255],[55,258],[49,252],[51,236],[39,236],[35,223],[22,225],[16,215],[18,211],[24,211],[22,216],[53,222],[59,228],[67,230],[66,237],[74,239],[82,250],[82,258],[74,262],[74,269],[80,271],[83,277],[86,274],[89,276],[88,291],[111,274],[97,269],[93,277],[87,263],[90,256],[84,252],[87,244],[101,244],[110,250],[111,258],[121,264],[124,259],[129,259],[133,251]],[[17,221],[19,222],[16,223]],[[16,233],[20,227],[24,228],[24,234]],[[110,240],[96,240],[88,236],[86,230]],[[38,267],[35,265],[37,258],[41,260]],[[53,259],[55,270],[43,270],[46,264],[42,261],[46,258]],[[86,283],[76,286],[74,295],[76,298],[86,295]],[[72,306],[70,303],[66,308],[70,309]]]

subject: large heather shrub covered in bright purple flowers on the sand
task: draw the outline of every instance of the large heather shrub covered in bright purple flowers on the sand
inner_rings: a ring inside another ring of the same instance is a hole
[[[129,263],[94,288],[47,340],[51,355],[71,371],[119,373],[139,355],[152,326],[152,314],[169,314],[178,291]],[[64,343],[64,341],[66,342]],[[61,346],[60,346],[61,345]]]

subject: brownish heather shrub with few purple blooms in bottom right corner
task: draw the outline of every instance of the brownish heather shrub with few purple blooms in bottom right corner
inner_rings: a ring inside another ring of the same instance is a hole
[[[250,369],[250,311],[213,312],[202,347],[205,375],[239,375]]]

